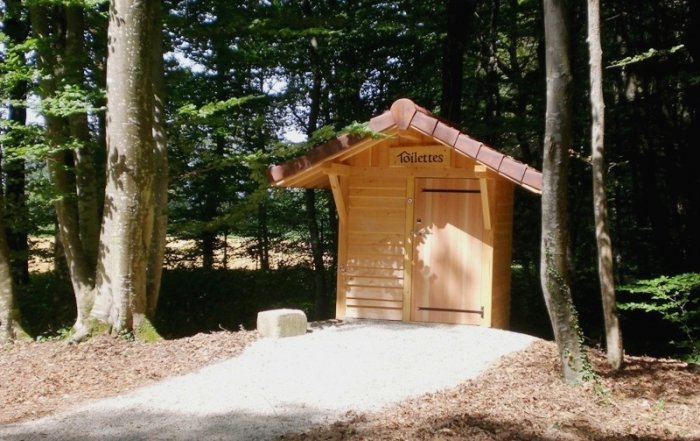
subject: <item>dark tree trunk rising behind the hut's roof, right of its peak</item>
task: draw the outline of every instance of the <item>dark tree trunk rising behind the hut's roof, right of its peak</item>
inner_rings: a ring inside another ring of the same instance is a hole
[[[447,2],[447,37],[442,57],[440,113],[448,121],[461,121],[464,50],[477,0]]]

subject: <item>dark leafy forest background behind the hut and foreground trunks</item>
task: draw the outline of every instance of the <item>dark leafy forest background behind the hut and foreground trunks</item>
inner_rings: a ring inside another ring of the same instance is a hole
[[[603,325],[589,162],[586,3],[570,3],[575,121],[569,258],[584,333],[596,345]],[[107,4],[47,4],[55,41],[66,37],[70,8],[77,5],[82,14],[85,52],[67,57],[76,57],[84,78],[78,84],[66,77],[54,111],[87,113],[83,142],[99,155]],[[322,190],[270,189],[264,170],[354,121],[369,120],[398,98],[408,97],[540,168],[541,7],[536,0],[164,1],[169,240],[189,245],[167,256],[156,317],[161,332],[177,337],[250,328],[257,311],[279,306],[302,308],[314,319],[330,317],[337,222],[332,198]],[[692,0],[601,5],[608,203],[619,285],[700,272],[698,9]],[[53,237],[56,224],[51,203],[57,195],[47,179],[37,116],[33,45],[42,42],[19,1],[0,2],[0,11],[5,224],[26,328],[35,336],[54,335],[70,327],[75,306],[60,243],[43,256],[29,246]],[[538,196],[516,190],[512,328],[549,337],[538,275],[539,204]],[[236,256],[252,259],[254,268],[231,269]],[[29,271],[28,262],[38,257],[53,259],[51,271]],[[618,297],[625,302],[632,294],[621,290]],[[700,306],[691,306],[692,326],[698,326]],[[677,348],[668,342],[682,338],[678,326],[653,311],[624,311],[622,326],[631,353],[673,354]]]

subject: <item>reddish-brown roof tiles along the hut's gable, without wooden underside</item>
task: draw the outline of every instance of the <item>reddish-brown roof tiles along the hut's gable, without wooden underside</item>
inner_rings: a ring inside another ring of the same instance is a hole
[[[369,128],[375,132],[385,132],[394,127],[399,130],[411,128],[431,136],[527,190],[534,193],[542,192],[540,171],[469,137],[409,99],[402,98],[395,101],[391,110],[369,121]],[[334,156],[351,152],[360,141],[362,140],[353,139],[348,135],[339,136],[315,147],[303,156],[271,167],[268,170],[268,178],[273,184],[279,183]]]

